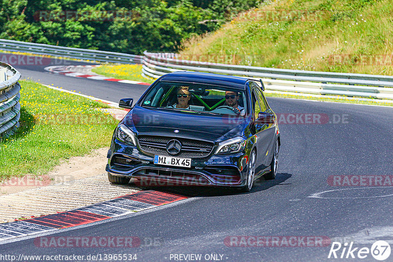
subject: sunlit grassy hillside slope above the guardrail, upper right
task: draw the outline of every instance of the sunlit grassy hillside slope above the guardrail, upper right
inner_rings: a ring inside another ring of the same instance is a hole
[[[391,75],[392,14],[391,0],[269,1],[183,43],[181,54],[253,66]]]

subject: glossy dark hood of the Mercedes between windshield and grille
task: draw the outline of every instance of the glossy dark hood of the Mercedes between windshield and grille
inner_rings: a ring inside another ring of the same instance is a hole
[[[237,135],[243,136],[249,122],[250,118],[247,117],[209,115],[136,105],[123,119],[122,124],[135,129],[138,134],[220,141]]]

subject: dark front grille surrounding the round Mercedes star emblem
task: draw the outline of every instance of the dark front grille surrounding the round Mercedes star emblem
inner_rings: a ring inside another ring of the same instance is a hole
[[[170,155],[167,152],[167,143],[172,139],[179,140],[182,144],[180,153],[176,155]],[[150,154],[190,158],[207,157],[214,147],[212,142],[155,135],[139,135],[138,143],[142,151]]]

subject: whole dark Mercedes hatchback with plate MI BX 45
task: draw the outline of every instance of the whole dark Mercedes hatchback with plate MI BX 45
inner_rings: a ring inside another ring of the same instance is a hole
[[[277,117],[250,79],[195,72],[157,79],[118,124],[108,151],[111,183],[230,186],[274,179]]]

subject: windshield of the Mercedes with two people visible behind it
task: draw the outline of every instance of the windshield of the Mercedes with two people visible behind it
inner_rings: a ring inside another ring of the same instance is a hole
[[[245,92],[240,89],[200,83],[159,82],[145,96],[141,106],[245,116],[246,101]]]

